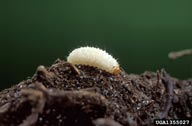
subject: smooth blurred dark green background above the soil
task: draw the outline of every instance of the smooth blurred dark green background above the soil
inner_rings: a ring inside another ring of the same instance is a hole
[[[191,0],[10,0],[0,14],[0,89],[86,45],[106,49],[128,73],[192,76],[192,56],[167,57],[192,48]]]

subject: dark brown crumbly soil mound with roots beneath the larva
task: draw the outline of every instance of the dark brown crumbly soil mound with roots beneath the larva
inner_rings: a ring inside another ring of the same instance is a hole
[[[192,119],[192,81],[165,70],[113,75],[57,60],[0,92],[0,126],[151,126]]]

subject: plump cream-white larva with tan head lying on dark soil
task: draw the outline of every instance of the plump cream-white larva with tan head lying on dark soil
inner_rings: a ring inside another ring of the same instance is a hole
[[[72,64],[97,67],[112,74],[120,73],[117,60],[106,51],[95,47],[80,47],[74,49],[67,57],[67,61]]]

